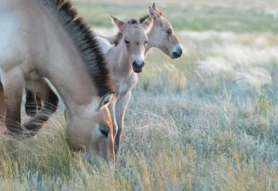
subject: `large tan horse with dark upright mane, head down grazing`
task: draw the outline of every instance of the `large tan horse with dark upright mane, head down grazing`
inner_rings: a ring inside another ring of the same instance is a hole
[[[115,164],[114,114],[108,109],[115,90],[90,27],[77,16],[71,1],[0,0],[0,4],[0,98],[4,94],[0,110],[4,102],[6,128],[15,135],[35,135],[54,113],[58,99],[47,78],[65,103],[70,146]],[[44,104],[21,126],[24,87]]]

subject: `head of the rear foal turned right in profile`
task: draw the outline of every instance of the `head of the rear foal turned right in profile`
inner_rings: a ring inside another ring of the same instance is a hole
[[[179,58],[182,54],[181,44],[170,22],[162,16],[162,12],[158,10],[156,3],[148,8],[149,15],[154,17],[154,26],[149,31],[149,41],[152,40],[154,47],[161,49],[170,58]]]

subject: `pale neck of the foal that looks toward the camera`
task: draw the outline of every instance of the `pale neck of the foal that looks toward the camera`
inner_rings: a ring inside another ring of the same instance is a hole
[[[117,76],[129,76],[132,74],[133,69],[131,67],[131,63],[129,60],[129,53],[127,52],[126,45],[123,40],[117,45],[117,47],[113,47],[110,51],[106,53],[106,57],[108,58],[108,63],[111,66],[111,71],[113,71],[113,76],[115,73]]]

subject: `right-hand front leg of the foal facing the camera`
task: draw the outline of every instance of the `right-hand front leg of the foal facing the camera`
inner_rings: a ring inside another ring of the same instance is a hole
[[[120,97],[117,99],[116,103],[116,120],[117,120],[117,135],[115,137],[114,147],[115,147],[115,157],[117,156],[117,153],[120,151],[120,141],[122,136],[122,131],[124,128],[124,113],[126,112],[126,107],[129,104],[129,100],[131,98],[131,92],[124,95],[123,97]]]

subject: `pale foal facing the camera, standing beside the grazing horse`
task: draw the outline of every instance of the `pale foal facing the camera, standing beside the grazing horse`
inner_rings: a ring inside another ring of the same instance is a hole
[[[124,113],[131,98],[131,90],[138,81],[136,73],[142,72],[145,65],[145,49],[148,44],[147,34],[153,26],[153,17],[149,17],[142,24],[131,19],[130,22],[123,22],[121,19],[111,16],[114,24],[122,33],[122,39],[117,46],[111,46],[99,38],[101,48],[106,51],[108,67],[111,71],[114,86],[116,88],[115,101],[109,109],[112,116],[113,133],[115,138],[115,156],[120,148],[120,138],[124,125]],[[108,47],[108,49],[106,49]]]

